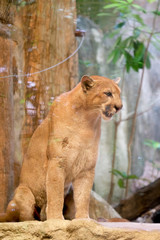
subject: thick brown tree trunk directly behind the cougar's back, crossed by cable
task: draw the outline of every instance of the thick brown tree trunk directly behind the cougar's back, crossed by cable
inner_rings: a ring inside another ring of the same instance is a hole
[[[67,58],[76,49],[75,1],[37,0],[19,11],[17,26],[23,32],[24,69],[30,74]],[[78,81],[77,56],[49,71],[25,77],[25,119],[23,152],[45,118],[53,97],[68,91]]]

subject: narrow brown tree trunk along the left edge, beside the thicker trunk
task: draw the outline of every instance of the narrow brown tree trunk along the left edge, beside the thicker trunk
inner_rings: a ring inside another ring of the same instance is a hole
[[[9,1],[0,2],[0,77],[13,72],[15,43],[8,38],[12,24]],[[7,39],[8,38],[8,39]],[[0,78],[0,212],[14,187],[13,78]]]

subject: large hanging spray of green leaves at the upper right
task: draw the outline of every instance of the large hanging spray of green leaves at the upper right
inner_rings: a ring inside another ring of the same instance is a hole
[[[148,2],[152,3],[154,0],[148,0]],[[144,23],[141,13],[160,15],[160,11],[148,12],[140,5],[135,4],[133,0],[110,0],[109,4],[104,6],[105,11],[108,9],[113,9],[113,14],[118,16],[118,23],[108,34],[108,37],[117,37],[117,40],[107,62],[116,64],[118,61],[124,60],[127,72],[131,69],[138,72],[144,65],[146,68],[150,68],[151,54],[146,49],[145,41],[152,30]],[[107,12],[102,14],[107,14]],[[156,38],[154,39],[154,46],[156,48],[160,47]]]

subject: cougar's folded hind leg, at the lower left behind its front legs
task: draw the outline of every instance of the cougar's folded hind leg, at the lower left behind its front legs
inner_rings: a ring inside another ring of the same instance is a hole
[[[14,201],[19,209],[19,221],[34,220],[35,197],[28,187],[20,185],[15,191]]]

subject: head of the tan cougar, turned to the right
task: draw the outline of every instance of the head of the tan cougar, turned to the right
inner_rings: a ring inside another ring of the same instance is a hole
[[[106,77],[83,76],[81,86],[88,109],[99,112],[103,119],[109,120],[122,108],[118,82]]]

